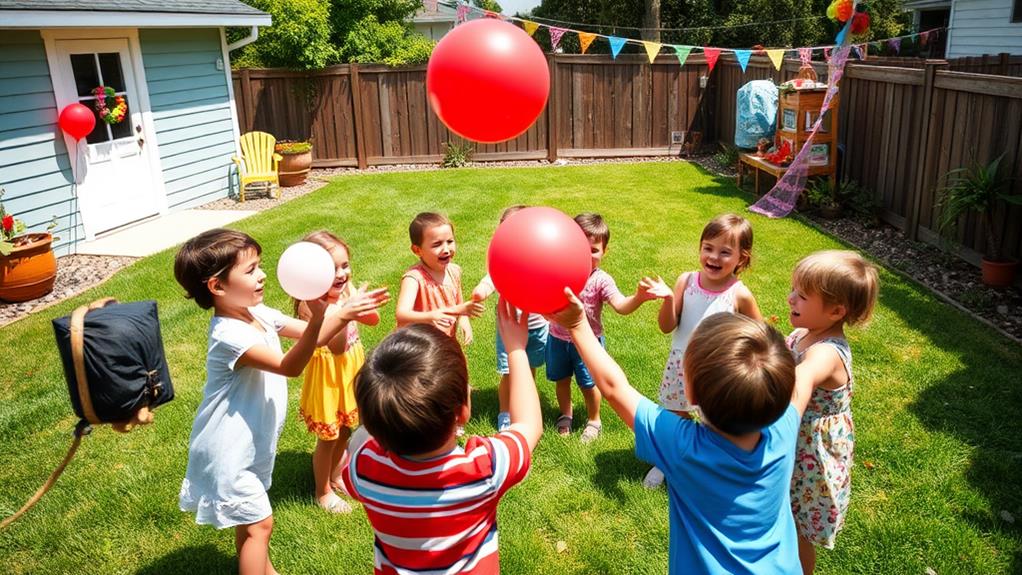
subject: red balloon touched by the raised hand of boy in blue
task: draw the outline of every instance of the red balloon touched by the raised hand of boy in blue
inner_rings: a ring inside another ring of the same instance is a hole
[[[486,254],[494,287],[512,305],[551,314],[568,304],[593,271],[589,239],[574,220],[552,207],[526,207],[505,220]]]

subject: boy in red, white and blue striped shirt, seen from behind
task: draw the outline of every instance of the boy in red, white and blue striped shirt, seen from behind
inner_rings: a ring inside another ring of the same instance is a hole
[[[429,325],[387,336],[356,379],[366,437],[353,438],[344,487],[375,532],[374,572],[472,575],[500,572],[497,505],[525,478],[543,433],[528,366],[528,317],[501,300],[498,328],[508,352],[511,427],[490,437],[457,429],[471,416],[461,346]]]

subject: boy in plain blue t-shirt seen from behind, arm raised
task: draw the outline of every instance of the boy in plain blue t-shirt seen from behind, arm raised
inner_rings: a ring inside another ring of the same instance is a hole
[[[798,425],[809,396],[795,391],[784,338],[744,316],[700,324],[685,354],[695,419],[668,412],[629,384],[570,293],[551,317],[571,339],[601,393],[636,433],[636,454],[663,470],[669,494],[669,573],[800,574],[789,492]]]

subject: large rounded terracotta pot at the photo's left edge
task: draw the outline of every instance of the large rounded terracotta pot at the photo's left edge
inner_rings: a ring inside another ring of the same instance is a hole
[[[0,299],[28,301],[53,290],[57,259],[53,255],[53,236],[26,234],[15,239],[10,255],[0,255]]]

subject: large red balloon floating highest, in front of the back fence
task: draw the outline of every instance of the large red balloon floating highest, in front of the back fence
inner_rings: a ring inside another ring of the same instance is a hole
[[[493,144],[519,136],[540,116],[550,95],[550,68],[521,29],[479,18],[455,28],[433,48],[426,93],[452,132]]]

